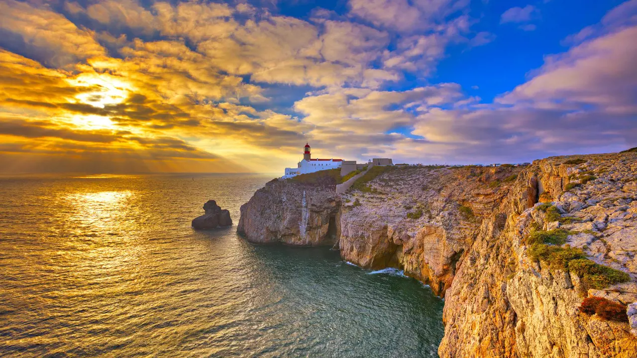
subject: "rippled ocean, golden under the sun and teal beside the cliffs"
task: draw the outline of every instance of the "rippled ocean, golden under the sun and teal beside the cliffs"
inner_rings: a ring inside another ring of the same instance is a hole
[[[438,357],[429,287],[236,234],[270,179],[0,176],[0,355]],[[190,227],[209,199],[233,227]]]

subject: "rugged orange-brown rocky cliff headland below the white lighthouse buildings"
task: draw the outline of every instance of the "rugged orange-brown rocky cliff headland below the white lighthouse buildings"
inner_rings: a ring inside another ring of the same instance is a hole
[[[385,168],[341,196],[269,183],[242,206],[240,231],[335,243],[347,261],[428,283],[445,297],[441,357],[637,356],[637,315],[631,333],[578,310],[589,296],[637,302],[637,153]]]

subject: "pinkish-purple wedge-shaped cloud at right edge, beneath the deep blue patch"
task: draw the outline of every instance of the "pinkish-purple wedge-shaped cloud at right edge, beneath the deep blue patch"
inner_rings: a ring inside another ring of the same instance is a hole
[[[528,82],[499,97],[498,103],[538,108],[637,114],[637,27],[591,39],[546,58]]]

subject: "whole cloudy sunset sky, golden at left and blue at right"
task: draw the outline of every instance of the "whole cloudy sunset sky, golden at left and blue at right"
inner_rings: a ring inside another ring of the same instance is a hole
[[[0,173],[637,147],[637,0],[0,0]]]

